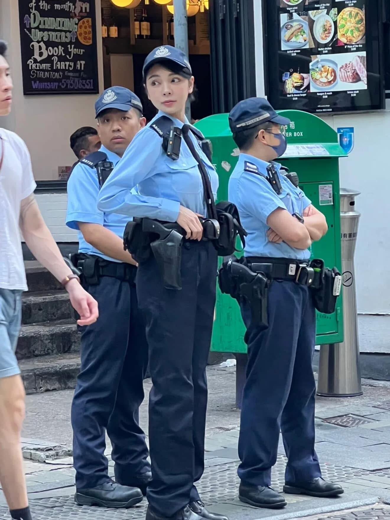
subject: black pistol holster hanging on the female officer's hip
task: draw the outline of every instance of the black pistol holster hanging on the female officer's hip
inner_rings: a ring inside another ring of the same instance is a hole
[[[182,289],[182,244],[183,236],[172,229],[168,236],[150,244],[160,269],[165,289]]]

